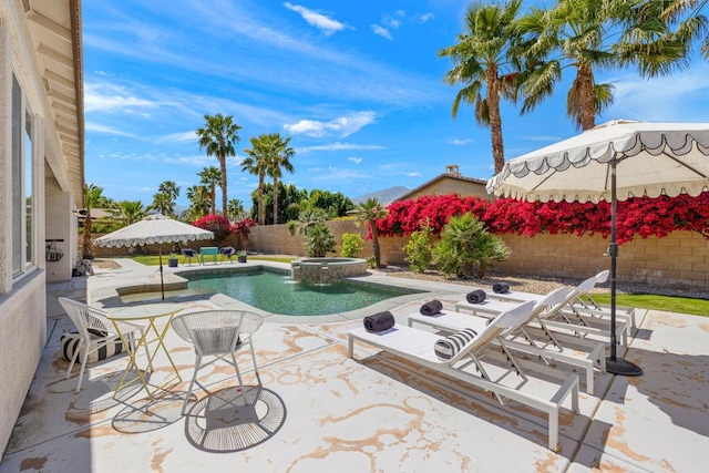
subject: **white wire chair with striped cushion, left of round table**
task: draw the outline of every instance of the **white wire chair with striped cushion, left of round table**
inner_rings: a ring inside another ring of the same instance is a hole
[[[115,322],[114,325],[113,321],[109,320],[106,312],[84,302],[79,302],[66,297],[59,297],[56,300],[59,300],[59,304],[61,304],[66,311],[66,315],[76,327],[81,338],[69,363],[66,379],[71,376],[71,370],[74,368],[74,363],[79,358],[81,349],[84,349],[83,357],[81,359],[81,370],[79,371],[79,383],[76,384],[75,391],[79,392],[81,390],[81,382],[84,378],[84,370],[86,368],[89,354],[99,351],[109,343],[112,343],[116,337],[120,337],[121,335],[123,335],[123,338],[126,338],[130,343],[133,343],[135,340],[135,332],[138,332],[142,338],[144,336],[144,328],[137,323],[131,322]],[[121,333],[116,331],[116,325]],[[127,348],[133,350],[133,347]],[[151,356],[147,347],[145,347],[145,354],[150,360]]]

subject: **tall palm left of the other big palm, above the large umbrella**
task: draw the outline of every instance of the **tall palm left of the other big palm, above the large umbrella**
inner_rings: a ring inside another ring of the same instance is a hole
[[[516,17],[522,0],[504,4],[472,3],[465,14],[465,32],[458,35],[458,44],[439,51],[455,64],[445,73],[444,81],[463,88],[453,101],[453,117],[461,102],[475,104],[475,120],[490,126],[495,173],[505,164],[502,140],[500,97],[516,99]],[[485,97],[482,91],[485,91]]]

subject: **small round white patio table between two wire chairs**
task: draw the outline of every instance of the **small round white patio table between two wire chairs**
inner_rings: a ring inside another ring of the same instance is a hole
[[[125,370],[123,371],[123,376],[121,376],[121,379],[119,380],[119,384],[116,385],[115,391],[113,392],[114,398],[116,397],[116,394],[122,388],[135,381],[135,379],[129,380],[127,382],[125,381],[129,371],[131,371],[131,369],[135,369],[137,373],[137,380],[141,382],[143,388],[145,389],[145,392],[147,392],[148,398],[153,399],[153,394],[155,393],[157,388],[151,391],[150,384],[147,382],[146,373],[153,371],[153,361],[155,360],[155,356],[157,354],[157,352],[161,351],[161,348],[162,348],[162,351],[167,357],[167,359],[169,360],[169,364],[172,366],[173,372],[176,376],[175,380],[182,381],[179,371],[177,370],[177,367],[175,367],[175,362],[169,356],[169,351],[165,347],[165,342],[164,342],[165,335],[169,329],[169,321],[172,320],[173,316],[179,312],[182,309],[183,309],[183,306],[181,306],[179,304],[162,302],[162,304],[145,304],[141,306],[124,307],[122,309],[117,309],[109,312],[109,319],[111,319],[111,321],[113,322],[119,336],[121,337],[121,341],[123,342],[123,346],[129,347],[129,362],[127,362],[127,366],[125,367]],[[164,326],[157,327],[156,320],[163,319],[163,318],[166,318],[166,320],[164,321]],[[143,333],[140,340],[137,340],[137,342],[135,342],[134,345],[130,343],[130,340],[127,339],[126,333],[121,332],[119,328],[120,326],[119,322],[122,322],[122,321],[131,321],[131,322],[146,321],[147,322],[147,327],[145,327],[145,330],[143,330]],[[150,345],[156,345],[152,353],[148,350]],[[136,360],[137,352],[141,348],[145,348],[145,352],[147,354],[147,367],[145,367],[145,369],[143,370],[141,369]],[[173,381],[174,380],[171,380],[168,382],[172,383]]]

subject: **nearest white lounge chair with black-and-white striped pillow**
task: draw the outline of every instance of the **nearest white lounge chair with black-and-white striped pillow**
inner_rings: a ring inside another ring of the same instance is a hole
[[[389,330],[373,333],[368,332],[364,328],[351,330],[348,333],[348,356],[349,358],[354,357],[354,341],[357,340],[413,361],[442,374],[470,383],[471,385],[490,391],[501,403],[504,403],[505,399],[510,399],[524,405],[538,409],[548,417],[549,449],[557,451],[558,417],[562,403],[566,398],[571,397],[572,410],[578,412],[578,377],[576,374],[557,372],[557,377],[562,379],[562,384],[558,387],[554,384],[552,395],[542,398],[538,394],[523,391],[528,379],[522,371],[521,363],[515,360],[510,350],[504,346],[502,346],[502,349],[512,364],[512,369],[523,378],[524,382],[516,385],[504,384],[504,382],[508,382],[508,370],[502,377],[493,380],[485,366],[481,362],[482,351],[490,348],[491,343],[502,335],[525,322],[533,307],[534,302],[524,302],[495,317],[489,325],[485,325],[471,341],[464,345],[460,351],[445,361],[442,361],[434,350],[436,342],[442,340],[440,335],[399,325],[394,325],[394,327]],[[466,369],[471,364],[474,366],[474,369]]]

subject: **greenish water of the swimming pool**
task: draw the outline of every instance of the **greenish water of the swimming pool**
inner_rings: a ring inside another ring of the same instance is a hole
[[[381,300],[415,294],[383,287],[338,282],[296,282],[289,275],[273,271],[193,274],[187,287],[198,292],[222,292],[271,313],[323,316],[361,309]]]

